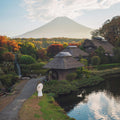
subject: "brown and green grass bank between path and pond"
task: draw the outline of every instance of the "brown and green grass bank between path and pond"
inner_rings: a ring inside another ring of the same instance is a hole
[[[47,94],[39,99],[37,94],[30,97],[23,104],[19,116],[20,120],[75,120],[69,118],[54,98]]]

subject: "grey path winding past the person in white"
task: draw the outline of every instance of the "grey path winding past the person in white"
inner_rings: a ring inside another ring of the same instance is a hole
[[[20,95],[0,112],[0,120],[18,120],[18,112],[26,99],[33,95],[39,81],[45,77],[29,80]]]

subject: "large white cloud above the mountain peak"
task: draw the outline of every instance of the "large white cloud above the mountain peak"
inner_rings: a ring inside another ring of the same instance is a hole
[[[84,10],[107,9],[120,0],[24,0],[27,17],[32,21],[48,21],[58,16],[76,18]]]

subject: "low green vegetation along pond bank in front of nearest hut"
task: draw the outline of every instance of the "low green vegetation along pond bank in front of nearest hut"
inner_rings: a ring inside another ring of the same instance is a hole
[[[91,76],[78,80],[51,80],[45,82],[43,92],[53,94],[55,97],[62,94],[69,94],[72,91],[77,91],[79,88],[94,86],[102,82],[104,79],[99,76]]]

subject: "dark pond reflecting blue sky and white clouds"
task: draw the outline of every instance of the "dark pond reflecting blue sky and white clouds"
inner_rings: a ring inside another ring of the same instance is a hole
[[[120,120],[120,76],[111,76],[98,86],[60,96],[57,102],[76,120]]]

